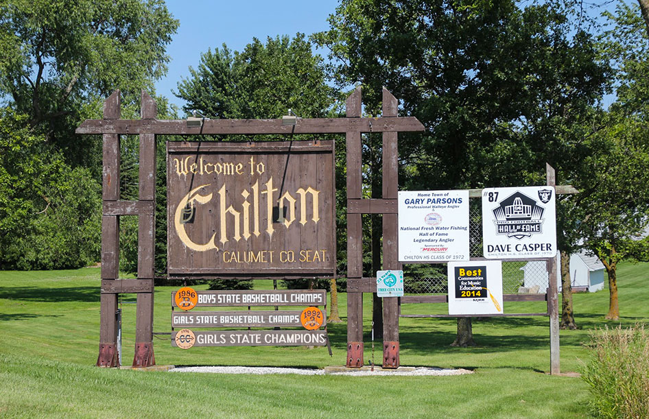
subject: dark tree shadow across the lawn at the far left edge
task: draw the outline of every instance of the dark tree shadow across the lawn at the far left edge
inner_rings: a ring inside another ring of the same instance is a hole
[[[0,287],[0,298],[34,302],[99,302],[99,287]]]

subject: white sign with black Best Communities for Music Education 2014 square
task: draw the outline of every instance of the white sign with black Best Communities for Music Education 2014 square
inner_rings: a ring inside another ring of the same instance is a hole
[[[502,262],[449,262],[449,314],[502,314]]]

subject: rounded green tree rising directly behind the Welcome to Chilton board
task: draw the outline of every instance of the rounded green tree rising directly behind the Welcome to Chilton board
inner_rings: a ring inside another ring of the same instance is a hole
[[[269,37],[265,44],[253,38],[241,52],[226,45],[210,49],[201,54],[198,67],[190,67],[189,73],[190,77],[178,83],[176,95],[187,101],[185,110],[196,110],[205,117],[279,118],[291,109],[299,117],[316,118],[325,117],[333,105],[333,89],[325,83],[322,58],[314,55],[303,34]],[[211,281],[213,288],[228,286],[231,284],[224,280]],[[329,283],[319,286],[329,287]],[[329,318],[335,320],[337,304],[332,306]]]

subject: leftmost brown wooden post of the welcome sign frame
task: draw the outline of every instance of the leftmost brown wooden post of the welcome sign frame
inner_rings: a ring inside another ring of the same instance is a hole
[[[104,119],[119,119],[119,90],[104,101]],[[103,134],[102,200],[119,200],[119,135]],[[102,279],[119,276],[119,215],[102,215]],[[97,366],[119,366],[117,354],[117,294],[102,294]]]

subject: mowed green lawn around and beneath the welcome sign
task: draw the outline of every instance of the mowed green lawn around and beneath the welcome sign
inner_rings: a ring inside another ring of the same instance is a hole
[[[620,322],[606,322],[607,290],[576,294],[578,331],[561,331],[561,370],[587,358],[589,331],[648,322],[648,264],[618,272]],[[269,287],[257,282],[255,287]],[[199,289],[203,287],[197,287]],[[156,287],[154,331],[171,328],[174,287]],[[346,315],[340,294],[340,315]],[[134,296],[123,296],[123,364],[134,352]],[[544,311],[543,303],[506,303],[506,313]],[[403,304],[402,313],[444,313],[446,304]],[[364,304],[366,363],[371,296]],[[475,348],[451,348],[454,319],[401,318],[401,365],[471,368],[464,376],[350,377],[178,374],[95,368],[99,344],[99,270],[0,272],[0,416],[2,417],[585,417],[588,391],[580,379],[550,369],[548,319],[491,318],[473,322]],[[342,365],[346,325],[329,325],[326,348],[172,348],[154,339],[156,363],[172,365]],[[381,342],[375,342],[381,363]]]

